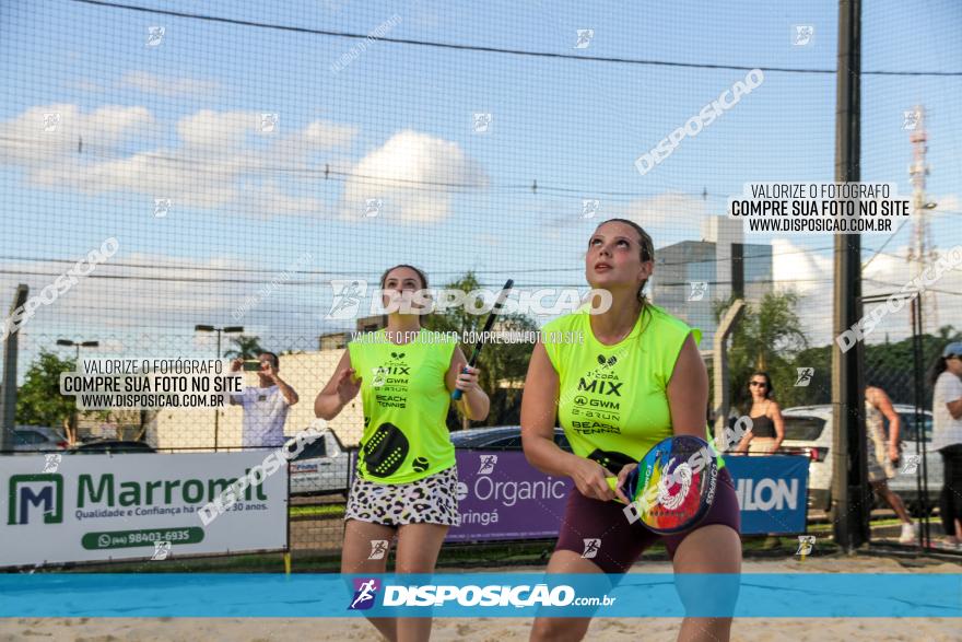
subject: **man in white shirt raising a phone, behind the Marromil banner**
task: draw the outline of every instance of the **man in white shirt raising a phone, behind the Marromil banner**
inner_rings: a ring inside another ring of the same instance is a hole
[[[257,372],[258,386],[230,395],[232,406],[244,409],[241,423],[241,445],[245,448],[277,447],[284,445],[284,423],[288,410],[297,402],[297,393],[278,372],[281,361],[273,352],[261,352],[257,362],[235,359],[232,372]]]

